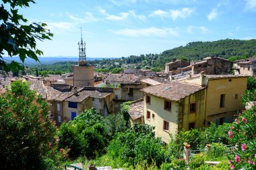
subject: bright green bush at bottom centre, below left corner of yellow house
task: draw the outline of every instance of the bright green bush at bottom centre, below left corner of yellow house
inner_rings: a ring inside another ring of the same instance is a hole
[[[143,161],[145,165],[152,165],[155,162],[160,166],[166,153],[160,138],[155,138],[152,130],[152,126],[134,124],[132,130],[115,136],[108,146],[108,154],[119,157],[131,165]]]

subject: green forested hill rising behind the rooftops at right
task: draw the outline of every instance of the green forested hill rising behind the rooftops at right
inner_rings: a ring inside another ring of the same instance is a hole
[[[222,58],[247,58],[256,54],[256,40],[218,40],[214,42],[189,42],[166,50],[158,55],[154,67],[163,67],[172,58],[187,58],[187,60],[201,60],[205,56],[220,56]]]

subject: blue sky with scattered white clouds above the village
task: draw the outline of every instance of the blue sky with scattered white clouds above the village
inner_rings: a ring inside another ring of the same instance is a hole
[[[44,56],[77,56],[80,28],[90,57],[256,38],[256,0],[37,0],[20,12],[53,32],[53,40],[38,42]]]

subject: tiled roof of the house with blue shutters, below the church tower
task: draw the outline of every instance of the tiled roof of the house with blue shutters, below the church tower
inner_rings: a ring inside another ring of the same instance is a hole
[[[66,101],[74,101],[74,102],[81,102],[87,97],[98,97],[98,98],[104,98],[111,93],[105,93],[100,91],[90,91],[90,90],[83,90],[77,93],[77,95],[72,95],[71,97],[65,99]]]

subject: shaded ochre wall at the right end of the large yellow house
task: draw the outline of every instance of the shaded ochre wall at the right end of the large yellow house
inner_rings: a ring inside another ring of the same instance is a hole
[[[231,80],[231,81],[229,81]],[[236,112],[245,107],[242,105],[241,96],[247,89],[247,78],[218,79],[208,81],[206,112],[207,120],[216,122],[216,118],[225,117],[229,112]],[[220,108],[220,95],[225,94],[224,108]],[[238,94],[238,99],[235,99]],[[207,118],[208,116],[213,118]]]

